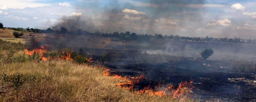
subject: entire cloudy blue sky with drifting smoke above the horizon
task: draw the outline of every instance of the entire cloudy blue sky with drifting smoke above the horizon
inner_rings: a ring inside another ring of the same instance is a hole
[[[0,0],[0,22],[5,27],[63,24],[90,32],[256,39],[255,5],[255,0]]]

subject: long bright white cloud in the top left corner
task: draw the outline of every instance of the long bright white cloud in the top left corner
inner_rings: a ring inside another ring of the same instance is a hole
[[[43,6],[51,6],[49,4],[44,3],[34,3],[34,0],[1,0],[0,9],[24,9],[26,7],[43,7]]]

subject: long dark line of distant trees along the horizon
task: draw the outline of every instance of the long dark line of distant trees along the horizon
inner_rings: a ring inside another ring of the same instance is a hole
[[[53,30],[48,28],[46,30],[40,30],[37,28],[8,28],[15,31],[22,32],[37,32],[37,33],[56,33],[56,34],[77,34],[77,35],[92,35],[99,37],[111,37],[112,41],[136,41],[136,42],[148,42],[150,39],[158,40],[175,40],[175,41],[192,41],[192,42],[230,42],[230,43],[256,43],[256,40],[243,40],[240,38],[212,38],[212,37],[183,37],[179,35],[162,35],[162,34],[136,34],[131,32],[113,32],[113,33],[102,33],[102,32],[87,32],[81,29],[75,32],[69,32],[66,28],[62,27],[60,30]]]

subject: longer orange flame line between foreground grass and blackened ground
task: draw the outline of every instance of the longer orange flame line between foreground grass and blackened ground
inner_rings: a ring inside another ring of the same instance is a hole
[[[109,76],[110,69],[107,69],[106,71],[104,71],[103,76]],[[137,77],[127,77],[127,76],[118,76],[118,75],[113,75],[112,76],[115,79],[123,79],[125,80],[122,83],[117,84],[118,87],[123,88],[123,89],[127,89],[127,90],[132,90],[134,87],[134,84],[139,83],[139,81],[144,77],[144,75],[140,75]],[[177,98],[177,97],[186,97],[188,96],[188,93],[191,91],[191,89],[193,88],[192,86],[192,80],[190,82],[184,81],[179,83],[178,88],[174,88],[173,85],[169,85],[166,88],[162,88],[160,90],[153,90],[150,89],[150,87],[145,87],[141,90],[135,91],[135,93],[142,95],[143,93],[149,94],[150,96],[158,96],[158,97],[162,97],[162,96],[172,96],[172,98]]]

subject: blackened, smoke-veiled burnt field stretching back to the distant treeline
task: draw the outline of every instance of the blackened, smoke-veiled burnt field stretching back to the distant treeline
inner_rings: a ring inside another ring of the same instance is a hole
[[[134,84],[135,90],[167,85],[177,88],[179,83],[190,81],[193,86],[190,95],[194,99],[256,100],[254,44],[168,40],[114,42],[111,38],[90,36],[53,38],[46,37],[46,42],[40,45],[50,43],[50,49],[83,49],[94,63],[108,67],[111,75],[144,75],[145,78]],[[214,54],[203,60],[200,52],[207,48],[212,48]],[[232,78],[242,79],[229,80]]]

